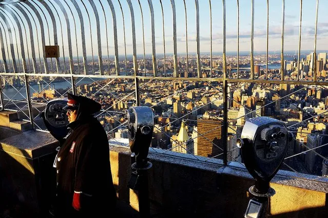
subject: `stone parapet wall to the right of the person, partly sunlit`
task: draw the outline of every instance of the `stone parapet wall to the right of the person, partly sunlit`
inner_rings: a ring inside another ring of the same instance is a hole
[[[224,166],[219,159],[204,162],[208,158],[161,149],[149,151],[153,164],[148,173],[152,214],[157,217],[244,216],[252,198],[248,188],[255,183],[244,166],[236,162]],[[112,173],[116,173],[114,183],[120,186],[121,192],[125,189],[125,201],[133,207],[138,205],[138,196],[126,186],[130,178],[130,154],[129,147],[111,148],[110,152]],[[125,161],[115,162],[116,157]],[[312,181],[315,177],[310,175],[302,176],[306,179],[299,178],[298,173],[278,171],[271,182],[276,190],[269,200],[272,217],[326,217],[328,183]]]

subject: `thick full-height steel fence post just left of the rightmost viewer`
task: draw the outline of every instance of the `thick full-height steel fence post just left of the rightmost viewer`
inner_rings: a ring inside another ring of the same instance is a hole
[[[223,138],[223,164],[227,165],[227,126],[228,126],[228,95],[227,95],[227,80],[226,80],[226,16],[225,16],[225,0],[222,0],[223,10],[223,126],[222,126],[222,138]]]

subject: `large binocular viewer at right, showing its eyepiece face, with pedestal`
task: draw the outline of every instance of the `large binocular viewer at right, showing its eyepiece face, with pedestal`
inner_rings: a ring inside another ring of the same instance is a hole
[[[268,117],[256,117],[245,122],[237,147],[243,162],[256,184],[249,188],[255,196],[248,203],[245,217],[266,217],[268,198],[275,194],[269,182],[282,164],[287,143],[292,140],[286,124]]]

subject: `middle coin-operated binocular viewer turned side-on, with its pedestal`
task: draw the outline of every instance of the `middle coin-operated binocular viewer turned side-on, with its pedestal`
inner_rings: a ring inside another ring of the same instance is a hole
[[[150,217],[147,171],[152,164],[147,156],[154,127],[153,113],[147,106],[134,106],[125,110],[125,120],[128,123],[129,146],[136,157],[128,186],[138,191],[140,217]]]

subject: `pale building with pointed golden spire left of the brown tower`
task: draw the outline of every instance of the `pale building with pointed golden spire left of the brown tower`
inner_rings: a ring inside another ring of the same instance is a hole
[[[184,121],[181,123],[178,136],[174,137],[175,141],[172,142],[172,151],[194,154],[194,140],[189,140],[188,132]]]

